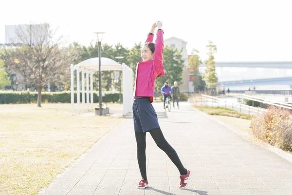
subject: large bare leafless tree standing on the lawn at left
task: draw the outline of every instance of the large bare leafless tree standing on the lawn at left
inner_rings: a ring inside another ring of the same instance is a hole
[[[62,36],[55,36],[50,24],[19,26],[17,41],[22,47],[14,50],[12,69],[24,77],[27,83],[37,88],[37,106],[41,107],[41,91],[48,83],[60,82],[62,74],[68,72],[70,61],[79,57],[78,51],[60,48]]]

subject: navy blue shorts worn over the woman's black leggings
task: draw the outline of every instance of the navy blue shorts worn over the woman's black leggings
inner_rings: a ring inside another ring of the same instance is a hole
[[[160,128],[157,114],[148,97],[134,99],[133,118],[134,130],[137,132]]]

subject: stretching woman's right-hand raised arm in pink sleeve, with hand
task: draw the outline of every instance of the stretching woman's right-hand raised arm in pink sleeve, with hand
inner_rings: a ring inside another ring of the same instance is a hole
[[[155,53],[153,57],[154,66],[158,72],[163,71],[164,66],[162,65],[163,58],[163,47],[164,47],[164,40],[163,40],[163,30],[161,29],[162,22],[157,22],[157,34],[156,34],[156,41],[155,41]]]

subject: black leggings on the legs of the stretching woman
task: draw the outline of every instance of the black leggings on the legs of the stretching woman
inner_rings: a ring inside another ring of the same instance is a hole
[[[156,145],[162,149],[170,160],[175,164],[179,169],[181,175],[186,175],[187,170],[183,167],[183,164],[175,152],[175,150],[169,145],[165,140],[163,133],[160,128],[152,129],[149,131],[150,135],[154,139]],[[137,158],[138,164],[141,172],[141,176],[147,180],[146,176],[146,132],[136,132],[135,137],[137,141]]]

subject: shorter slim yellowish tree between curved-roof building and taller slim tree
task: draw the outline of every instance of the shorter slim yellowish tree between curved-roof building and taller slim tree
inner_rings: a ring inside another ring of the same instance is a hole
[[[198,50],[193,49],[192,55],[188,61],[189,73],[191,74],[195,92],[204,91],[205,88],[205,82],[202,80],[201,74],[199,72],[199,66],[202,62],[198,53]]]

